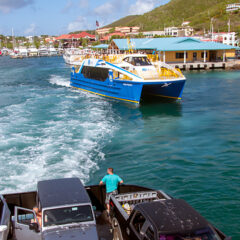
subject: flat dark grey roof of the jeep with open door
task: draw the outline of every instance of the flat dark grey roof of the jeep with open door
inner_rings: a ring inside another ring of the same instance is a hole
[[[41,208],[91,203],[79,178],[39,181],[37,191]]]

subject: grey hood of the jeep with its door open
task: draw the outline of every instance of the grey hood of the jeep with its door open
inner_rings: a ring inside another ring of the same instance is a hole
[[[43,240],[98,240],[96,225],[70,226],[43,232]]]

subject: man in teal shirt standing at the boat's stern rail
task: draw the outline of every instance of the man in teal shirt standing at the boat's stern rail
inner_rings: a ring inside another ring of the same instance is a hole
[[[107,169],[107,175],[100,181],[100,185],[106,184],[106,200],[107,211],[110,211],[109,200],[112,194],[117,194],[118,183],[123,183],[123,180],[116,174],[113,173],[113,168]]]

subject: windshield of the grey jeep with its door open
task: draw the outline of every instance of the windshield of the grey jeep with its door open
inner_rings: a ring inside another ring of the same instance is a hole
[[[93,213],[90,205],[49,209],[44,211],[43,220],[45,227],[89,222],[93,221]]]

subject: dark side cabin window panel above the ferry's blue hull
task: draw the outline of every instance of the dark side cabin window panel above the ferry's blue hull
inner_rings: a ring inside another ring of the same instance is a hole
[[[108,68],[83,66],[81,73],[85,78],[104,82],[108,78]]]

